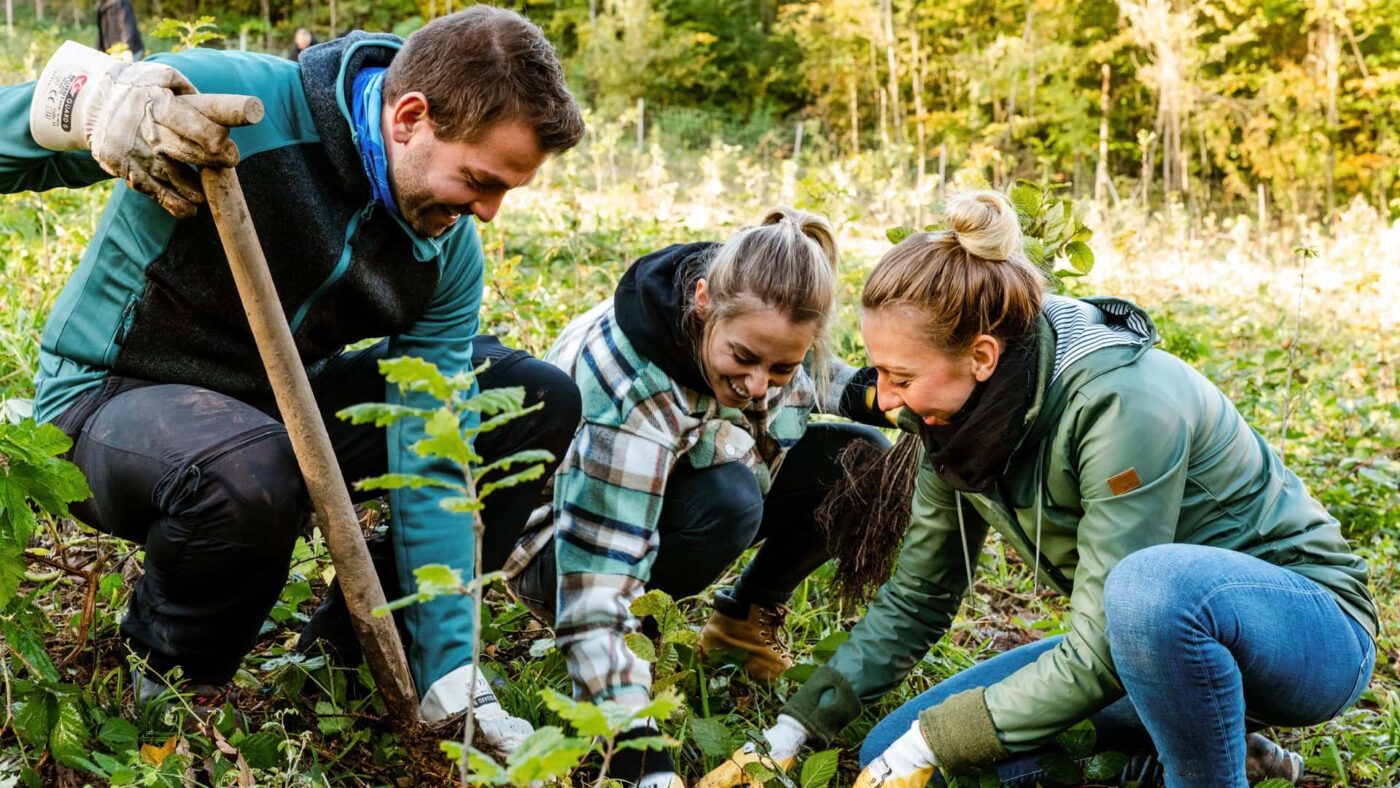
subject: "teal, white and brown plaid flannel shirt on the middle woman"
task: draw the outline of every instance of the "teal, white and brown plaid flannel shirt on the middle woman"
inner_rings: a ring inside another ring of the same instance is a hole
[[[553,507],[536,511],[505,567],[519,572],[553,537],[559,564],[554,633],[575,694],[640,707],[651,666],[627,648],[661,537],[671,469],[728,462],[753,470],[767,493],[783,456],[816,407],[802,368],[745,410],[721,406],[643,358],[613,319],[612,301],[577,318],[546,354],[582,393],[582,423],[553,479]],[[834,368],[840,392],[853,370]],[[836,410],[839,402],[823,403]]]

